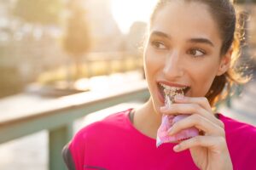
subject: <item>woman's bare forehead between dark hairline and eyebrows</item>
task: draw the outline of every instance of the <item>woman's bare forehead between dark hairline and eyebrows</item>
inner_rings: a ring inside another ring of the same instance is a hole
[[[152,20],[151,31],[163,31],[172,37],[206,37],[220,43],[218,25],[206,4],[174,0],[160,8]]]

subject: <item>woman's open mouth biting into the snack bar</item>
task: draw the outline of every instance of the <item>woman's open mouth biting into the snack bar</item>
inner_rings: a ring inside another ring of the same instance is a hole
[[[162,82],[158,82],[158,88],[163,98],[165,98],[166,95],[170,97],[174,97],[177,94],[186,95],[190,89],[189,86],[182,86],[182,87],[170,86]]]

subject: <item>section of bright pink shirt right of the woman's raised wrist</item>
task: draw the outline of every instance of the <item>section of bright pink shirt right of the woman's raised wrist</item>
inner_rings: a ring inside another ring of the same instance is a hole
[[[219,115],[224,122],[226,141],[234,169],[256,169],[254,157],[256,156],[256,127]]]

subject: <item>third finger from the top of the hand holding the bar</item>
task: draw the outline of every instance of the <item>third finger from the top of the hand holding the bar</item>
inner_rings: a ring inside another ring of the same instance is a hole
[[[175,122],[168,134],[173,135],[189,127],[196,127],[201,129],[206,133],[206,135],[225,136],[224,129],[222,127],[219,127],[218,125],[198,114],[188,116],[179,122]]]

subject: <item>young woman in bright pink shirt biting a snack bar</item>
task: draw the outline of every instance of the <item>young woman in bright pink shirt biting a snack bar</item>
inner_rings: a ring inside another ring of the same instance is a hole
[[[212,107],[231,83],[239,49],[229,0],[159,0],[148,26],[144,69],[151,98],[84,127],[66,149],[69,169],[256,169],[256,128]],[[185,88],[165,106],[163,88]],[[196,127],[202,133],[155,146],[163,115],[189,115],[168,135]]]

